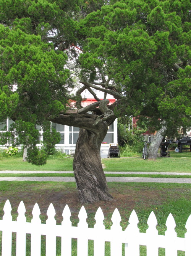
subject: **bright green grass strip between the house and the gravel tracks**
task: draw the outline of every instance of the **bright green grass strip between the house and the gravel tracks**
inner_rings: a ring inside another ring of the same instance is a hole
[[[23,162],[21,157],[0,157],[1,170],[19,171],[72,171],[73,158],[50,156],[43,166]],[[171,152],[171,157],[157,157],[144,160],[141,156],[129,158],[102,159],[104,171],[111,172],[186,172],[191,173],[191,152]],[[160,176],[161,177],[161,176]],[[172,177],[172,176],[171,176]]]

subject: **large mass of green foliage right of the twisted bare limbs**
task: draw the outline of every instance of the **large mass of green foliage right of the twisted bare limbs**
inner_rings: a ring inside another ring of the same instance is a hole
[[[188,0],[110,1],[89,13],[79,22],[79,44],[84,50],[79,58],[82,79],[92,81],[95,69],[94,80],[102,79],[102,74],[109,76],[117,91],[124,92],[121,112],[141,116],[151,129],[160,128],[159,119],[177,129],[180,124],[175,124],[175,114],[181,116],[181,124],[188,124],[188,101],[173,116],[164,104],[168,98],[171,107],[181,101],[174,99],[167,85],[183,83],[175,63],[181,70],[190,65],[190,8]]]

